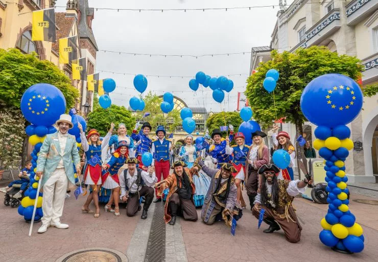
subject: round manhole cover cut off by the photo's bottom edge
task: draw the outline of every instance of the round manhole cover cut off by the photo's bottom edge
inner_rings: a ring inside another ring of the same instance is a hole
[[[103,248],[80,249],[64,254],[57,259],[60,262],[126,262],[127,256],[120,251]]]

